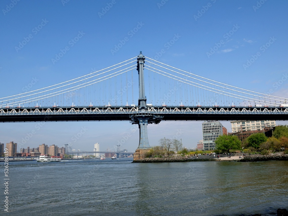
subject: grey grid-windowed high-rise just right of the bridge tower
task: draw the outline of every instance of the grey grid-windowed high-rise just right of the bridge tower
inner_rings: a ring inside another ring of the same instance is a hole
[[[203,149],[214,150],[216,149],[215,139],[223,135],[223,125],[220,122],[203,122]]]

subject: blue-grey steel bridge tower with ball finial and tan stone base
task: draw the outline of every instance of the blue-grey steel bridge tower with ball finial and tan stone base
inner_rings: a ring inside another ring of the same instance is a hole
[[[131,123],[138,124],[139,132],[140,132],[140,139],[139,139],[139,146],[136,149],[134,154],[134,160],[139,160],[145,157],[145,153],[150,150],[150,145],[148,141],[148,134],[147,134],[147,124],[148,123],[155,123],[158,124],[162,116],[153,115],[149,113],[147,108],[147,98],[145,96],[145,88],[144,88],[144,63],[145,63],[145,56],[140,51],[139,56],[137,56],[137,71],[139,74],[139,99],[138,99],[138,113],[131,116]]]

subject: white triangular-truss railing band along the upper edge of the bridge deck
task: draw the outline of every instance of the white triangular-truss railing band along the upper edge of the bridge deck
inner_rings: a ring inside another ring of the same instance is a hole
[[[39,114],[177,114],[177,113],[217,113],[217,114],[283,114],[288,107],[57,107],[57,108],[0,108],[0,115],[39,115]]]

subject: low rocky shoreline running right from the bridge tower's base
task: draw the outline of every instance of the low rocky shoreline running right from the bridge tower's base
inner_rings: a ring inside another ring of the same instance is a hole
[[[246,155],[244,158],[233,157],[231,160],[237,162],[256,162],[268,160],[288,160],[288,154],[272,154],[272,155]],[[163,162],[192,162],[192,161],[224,161],[223,158],[186,158],[186,157],[164,157],[164,158],[144,158],[140,160],[133,160],[132,163],[163,163]]]

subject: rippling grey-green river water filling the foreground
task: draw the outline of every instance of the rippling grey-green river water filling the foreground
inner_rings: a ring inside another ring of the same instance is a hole
[[[288,161],[131,162],[10,162],[9,213],[1,202],[0,215],[272,215],[288,207]]]

